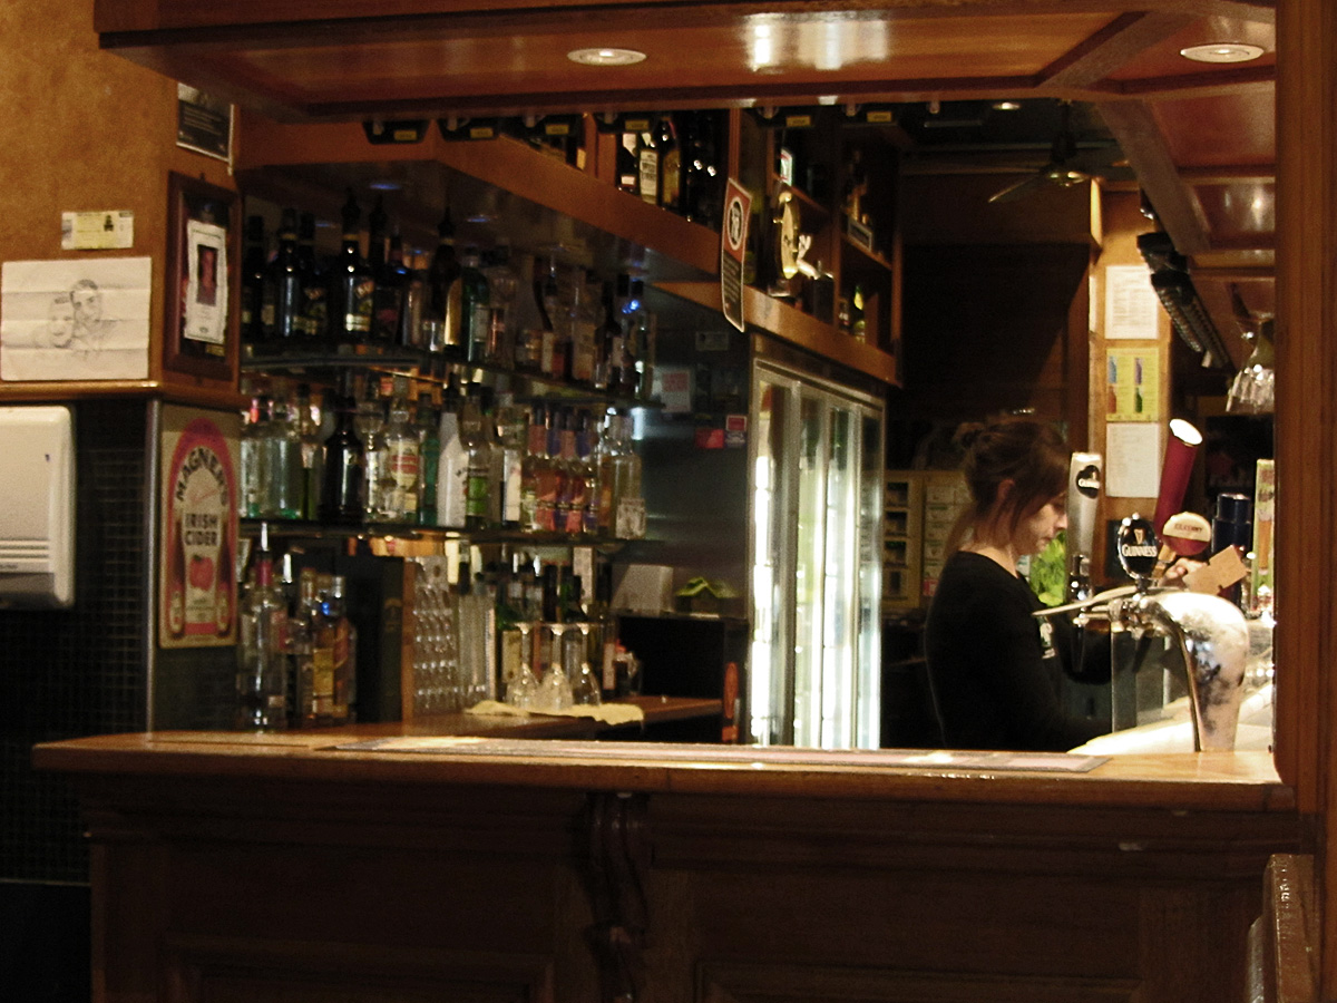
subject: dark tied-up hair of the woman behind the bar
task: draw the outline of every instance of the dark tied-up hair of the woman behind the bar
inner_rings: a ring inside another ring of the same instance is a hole
[[[952,527],[949,554],[960,548],[968,531],[984,523],[996,522],[1011,535],[1023,519],[1067,489],[1071,453],[1048,421],[1009,416],[961,425],[957,439],[965,448],[961,471],[971,502]],[[1004,481],[1012,481],[1012,489],[1000,497]]]

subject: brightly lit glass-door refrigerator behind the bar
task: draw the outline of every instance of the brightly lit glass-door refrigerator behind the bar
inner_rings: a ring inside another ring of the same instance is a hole
[[[753,366],[749,738],[877,748],[882,401]]]

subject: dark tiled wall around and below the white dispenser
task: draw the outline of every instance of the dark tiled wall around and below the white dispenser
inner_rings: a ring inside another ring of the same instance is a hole
[[[32,746],[147,726],[147,407],[76,405],[75,604],[0,610],[0,880],[88,880],[78,805]]]

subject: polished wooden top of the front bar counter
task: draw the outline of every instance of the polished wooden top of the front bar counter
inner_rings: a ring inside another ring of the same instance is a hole
[[[697,703],[640,698],[655,715]],[[715,702],[718,705],[718,702]],[[655,706],[658,705],[658,706]],[[607,730],[607,729],[604,729]],[[635,737],[635,726],[612,729]],[[1173,808],[1294,813],[1265,752],[1062,756],[826,752],[592,738],[588,721],[452,715],[271,734],[154,732],[39,745],[35,765],[78,774],[493,785],[679,794]]]

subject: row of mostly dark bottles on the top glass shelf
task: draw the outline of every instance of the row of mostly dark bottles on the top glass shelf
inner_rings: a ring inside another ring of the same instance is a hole
[[[349,193],[337,257],[318,261],[316,219],[285,209],[277,247],[246,227],[242,337],[253,352],[336,352],[372,345],[427,360],[515,370],[611,396],[647,399],[655,316],[640,280],[512,255],[505,243],[457,253],[449,209],[429,262],[406,257],[377,201],[362,254],[361,210]]]

